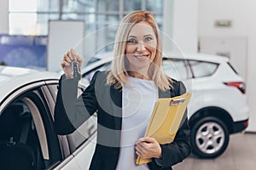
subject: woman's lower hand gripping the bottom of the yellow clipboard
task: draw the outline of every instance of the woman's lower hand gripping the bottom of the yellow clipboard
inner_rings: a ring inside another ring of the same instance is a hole
[[[142,158],[160,158],[162,150],[160,144],[154,138],[141,138],[136,143],[136,153]]]

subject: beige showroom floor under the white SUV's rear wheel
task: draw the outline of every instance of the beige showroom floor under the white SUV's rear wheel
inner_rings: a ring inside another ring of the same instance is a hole
[[[228,149],[212,160],[191,155],[173,167],[174,170],[254,170],[256,169],[256,133],[238,133],[230,136]]]

